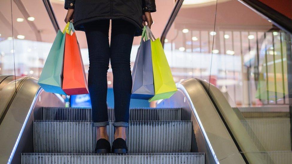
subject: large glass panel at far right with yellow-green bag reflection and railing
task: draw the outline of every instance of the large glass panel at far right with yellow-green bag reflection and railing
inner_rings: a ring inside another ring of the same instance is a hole
[[[250,138],[238,140],[240,128],[229,122],[231,133],[249,162],[291,163],[290,34],[236,0],[217,3],[210,82],[244,117]]]

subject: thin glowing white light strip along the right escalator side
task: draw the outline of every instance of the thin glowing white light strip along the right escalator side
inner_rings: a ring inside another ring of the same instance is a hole
[[[218,160],[218,158],[217,158],[217,156],[216,156],[216,154],[215,154],[215,151],[214,151],[214,149],[213,149],[213,147],[212,147],[212,145],[211,145],[211,142],[209,141],[209,138],[208,138],[208,136],[207,136],[207,134],[206,134],[206,131],[205,131],[204,127],[203,127],[203,124],[202,124],[202,122],[201,122],[201,120],[200,120],[200,117],[199,117],[199,115],[197,114],[197,111],[196,111],[196,109],[195,109],[195,107],[194,107],[193,102],[191,101],[191,97],[190,97],[190,95],[188,95],[188,92],[186,91],[185,87],[184,87],[181,83],[176,83],[176,86],[177,86],[178,89],[181,89],[184,93],[186,93],[185,96],[186,96],[186,98],[188,99],[188,101],[189,101],[190,104],[191,104],[191,108],[192,108],[192,110],[193,110],[193,112],[194,112],[194,115],[196,116],[196,119],[197,119],[197,121],[198,121],[198,124],[199,124],[199,126],[200,126],[200,128],[201,128],[201,130],[202,130],[202,133],[203,133],[203,135],[204,135],[204,137],[205,137],[205,140],[206,140],[206,142],[207,142],[207,145],[209,146],[209,148],[210,148],[210,150],[211,150],[211,153],[212,153],[212,155],[213,155],[213,157],[214,157],[214,159],[215,159],[215,162],[216,162],[217,164],[220,164],[220,163],[219,163],[219,160]]]

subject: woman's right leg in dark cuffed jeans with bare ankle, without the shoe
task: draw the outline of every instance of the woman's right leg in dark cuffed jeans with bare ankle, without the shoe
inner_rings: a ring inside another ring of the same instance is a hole
[[[124,20],[112,20],[110,63],[115,99],[115,139],[126,139],[132,90],[130,54],[136,27]]]

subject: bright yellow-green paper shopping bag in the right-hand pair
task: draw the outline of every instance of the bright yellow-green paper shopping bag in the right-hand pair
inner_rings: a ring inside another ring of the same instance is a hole
[[[155,95],[151,99],[149,99],[149,102],[159,99],[168,99],[177,91],[177,87],[174,83],[174,79],[171,74],[171,70],[168,65],[160,39],[155,39],[153,33],[148,26],[146,26],[146,33],[149,33],[149,38],[151,42],[155,92]]]

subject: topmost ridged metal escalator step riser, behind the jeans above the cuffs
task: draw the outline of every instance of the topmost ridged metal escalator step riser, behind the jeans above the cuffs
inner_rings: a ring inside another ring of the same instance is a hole
[[[115,120],[114,109],[108,109],[109,120]],[[43,107],[44,120],[92,120],[91,108]],[[181,108],[131,108],[130,120],[181,120]]]

